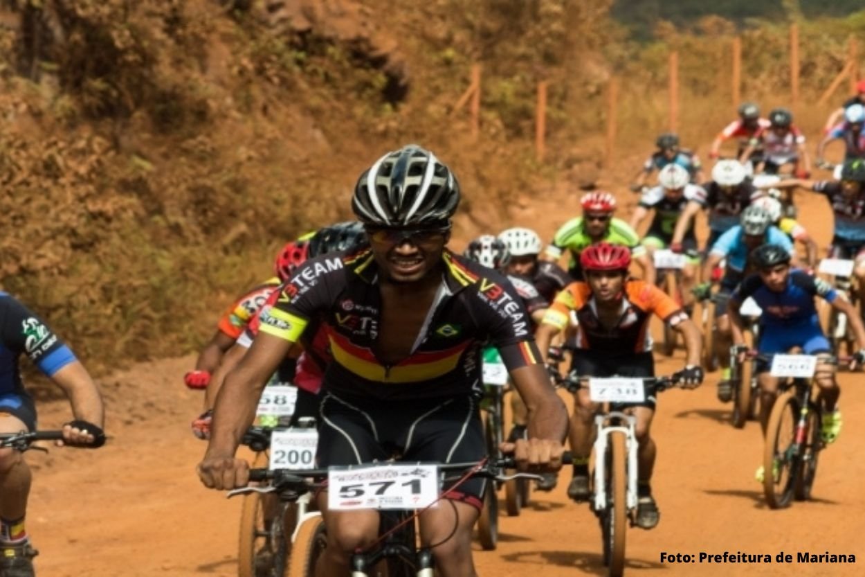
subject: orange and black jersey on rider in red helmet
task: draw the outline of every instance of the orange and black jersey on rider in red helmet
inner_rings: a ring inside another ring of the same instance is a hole
[[[572,282],[559,293],[544,314],[543,324],[564,328],[576,312],[577,348],[610,355],[651,351],[649,332],[651,314],[675,326],[688,318],[663,290],[644,281],[625,282],[621,314],[615,327],[605,327],[598,319],[597,304],[586,282]]]

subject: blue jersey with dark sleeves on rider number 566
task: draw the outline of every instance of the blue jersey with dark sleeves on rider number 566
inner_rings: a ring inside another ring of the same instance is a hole
[[[749,296],[763,309],[759,317],[761,327],[790,327],[800,323],[817,323],[814,297],[820,296],[832,302],[838,294],[823,280],[794,269],[790,271],[787,285],[781,292],[770,290],[759,275],[751,275],[733,291],[730,300],[741,303]]]

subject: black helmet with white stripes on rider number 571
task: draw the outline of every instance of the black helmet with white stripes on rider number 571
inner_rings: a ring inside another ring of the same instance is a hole
[[[459,204],[459,184],[432,152],[417,145],[388,152],[363,172],[351,208],[363,224],[441,226]]]

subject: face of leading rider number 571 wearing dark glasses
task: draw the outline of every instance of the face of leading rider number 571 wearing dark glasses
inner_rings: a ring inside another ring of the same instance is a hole
[[[394,282],[417,282],[441,261],[451,231],[367,227],[369,246],[383,276]]]

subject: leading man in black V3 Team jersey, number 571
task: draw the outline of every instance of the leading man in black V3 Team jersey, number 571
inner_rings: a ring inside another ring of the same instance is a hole
[[[482,459],[477,398],[480,347],[488,341],[529,405],[529,439],[503,451],[515,451],[521,469],[561,466],[567,411],[549,386],[519,296],[503,276],[445,248],[458,202],[457,179],[420,146],[388,152],[361,175],[352,208],[370,250],[307,261],[262,315],[253,346],[216,401],[198,468],[205,486],[247,484],[248,464],[234,453],[255,399],[314,321],[326,325],[333,354],[319,407],[318,466]],[[484,481],[469,480],[446,493],[452,506],[420,514],[420,539],[437,544],[432,554],[443,577],[474,574],[471,533],[483,495]],[[378,511],[331,511],[326,491],[318,506],[327,535],[318,572],[348,574],[351,554],[378,535]]]

